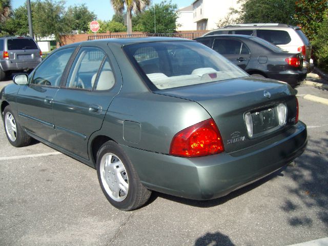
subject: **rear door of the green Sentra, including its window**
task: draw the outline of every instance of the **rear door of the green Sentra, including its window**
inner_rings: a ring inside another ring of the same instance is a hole
[[[55,144],[85,159],[89,158],[89,137],[101,128],[121,86],[121,79],[112,70],[113,61],[103,49],[81,47],[65,87],[54,99]]]

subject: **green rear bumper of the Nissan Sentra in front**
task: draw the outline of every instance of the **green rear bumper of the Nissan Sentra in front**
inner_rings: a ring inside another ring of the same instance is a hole
[[[148,189],[207,200],[267,176],[301,155],[306,144],[306,126],[298,122],[285,133],[256,146],[205,157],[181,158],[121,147]]]

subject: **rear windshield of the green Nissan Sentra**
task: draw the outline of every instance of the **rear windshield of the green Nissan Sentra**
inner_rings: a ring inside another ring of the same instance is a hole
[[[150,88],[154,90],[248,76],[214,50],[196,42],[142,43],[125,46],[124,50],[137,70],[152,82]]]

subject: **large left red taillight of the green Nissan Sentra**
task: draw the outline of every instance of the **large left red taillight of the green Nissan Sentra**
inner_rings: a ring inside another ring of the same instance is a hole
[[[195,157],[218,154],[223,151],[222,137],[211,118],[175,134],[171,142],[170,155]]]

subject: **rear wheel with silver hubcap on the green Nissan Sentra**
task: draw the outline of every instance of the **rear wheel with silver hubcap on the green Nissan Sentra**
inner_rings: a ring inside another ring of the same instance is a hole
[[[96,168],[101,190],[115,208],[135,210],[148,201],[151,191],[142,185],[130,158],[114,141],[100,147]]]

